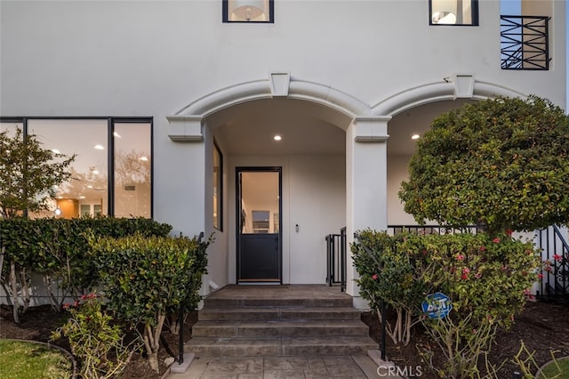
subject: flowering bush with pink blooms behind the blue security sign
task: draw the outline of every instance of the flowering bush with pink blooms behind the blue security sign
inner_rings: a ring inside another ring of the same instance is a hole
[[[404,315],[390,329],[402,328],[406,333],[405,339],[403,332],[392,334],[396,342],[408,342],[409,329],[422,322],[445,354],[446,367],[440,370],[449,377],[465,375],[461,370],[467,368],[476,370],[472,364],[489,349],[493,326],[513,323],[530,287],[539,279],[540,254],[531,242],[508,234],[391,237],[365,230],[359,241],[352,252],[360,293],[378,313],[383,301],[398,316]],[[447,320],[426,319],[422,312],[426,296],[437,292],[449,296],[453,304]],[[470,355],[464,353],[465,347]]]

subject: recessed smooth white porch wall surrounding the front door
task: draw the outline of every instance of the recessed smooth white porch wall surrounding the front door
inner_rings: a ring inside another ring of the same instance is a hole
[[[229,267],[235,268],[236,260],[235,222],[231,222],[236,208],[235,167],[273,165],[283,168],[283,281],[325,283],[325,236],[339,233],[346,223],[344,157],[229,157]],[[235,283],[236,272],[230,270],[228,274],[229,283]]]

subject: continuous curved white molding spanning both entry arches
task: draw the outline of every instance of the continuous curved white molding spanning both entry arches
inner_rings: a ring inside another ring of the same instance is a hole
[[[283,74],[287,76],[285,79],[288,88],[275,91],[273,76]],[[370,107],[365,102],[330,85],[294,79],[289,73],[278,71],[269,73],[267,79],[231,85],[192,101],[174,115],[166,117],[170,124],[168,135],[172,141],[203,141],[204,117],[246,101],[271,99],[275,96],[312,101],[351,118],[365,118],[393,117],[406,109],[419,107],[429,102],[453,101],[457,97],[484,100],[497,96],[525,97],[525,94],[500,85],[477,81],[473,74],[453,74],[453,76],[445,77],[441,82],[419,85],[396,93]],[[361,137],[361,141],[365,141],[365,136]],[[377,135],[372,134],[371,137],[373,138],[368,138],[369,141],[378,139]]]

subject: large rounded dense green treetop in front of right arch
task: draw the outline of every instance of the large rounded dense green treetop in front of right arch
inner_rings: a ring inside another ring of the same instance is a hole
[[[569,219],[569,118],[537,96],[477,101],[437,117],[399,197],[417,222],[535,230]]]

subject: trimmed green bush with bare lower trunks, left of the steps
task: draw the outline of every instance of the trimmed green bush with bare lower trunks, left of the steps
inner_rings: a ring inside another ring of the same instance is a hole
[[[150,367],[158,370],[157,352],[164,320],[182,308],[195,309],[206,272],[210,241],[197,238],[90,238],[109,308],[132,326],[143,327]]]

